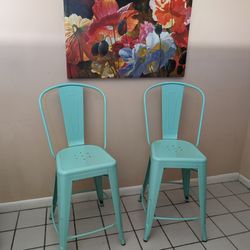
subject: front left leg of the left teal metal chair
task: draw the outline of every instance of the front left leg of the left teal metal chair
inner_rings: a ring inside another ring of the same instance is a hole
[[[72,182],[66,176],[58,176],[58,233],[60,250],[67,250]]]

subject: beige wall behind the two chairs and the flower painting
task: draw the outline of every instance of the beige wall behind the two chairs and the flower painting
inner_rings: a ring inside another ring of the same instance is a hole
[[[237,8],[227,0],[193,2],[186,76],[178,80],[196,83],[207,96],[200,148],[209,159],[208,174],[238,172],[249,121],[250,2]],[[37,98],[42,89],[67,81],[63,1],[4,1],[0,27],[0,202],[49,196],[54,162]],[[107,95],[108,150],[118,161],[121,186],[142,183],[148,156],[142,98],[158,81],[85,81]],[[153,106],[159,108],[159,101]],[[154,117],[159,124],[159,112]],[[191,118],[183,122],[190,125]]]

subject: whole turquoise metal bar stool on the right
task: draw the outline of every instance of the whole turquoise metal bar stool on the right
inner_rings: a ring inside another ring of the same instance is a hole
[[[147,97],[149,92],[157,87],[162,89],[162,139],[153,143],[150,141]],[[201,113],[195,145],[188,141],[178,139],[179,120],[182,109],[184,89],[190,88],[201,96]],[[205,106],[203,91],[191,84],[182,82],[163,82],[146,89],[144,93],[144,114],[146,123],[147,142],[150,146],[150,157],[146,176],[144,179],[140,201],[146,211],[144,241],[148,241],[153,220],[200,220],[202,240],[206,235],[206,157],[198,149],[200,133]],[[190,171],[198,172],[200,216],[192,218],[172,218],[155,215],[155,208],[160,191],[163,171],[169,168],[182,170],[184,198],[188,201]],[[148,187],[147,208],[144,205],[144,194]]]

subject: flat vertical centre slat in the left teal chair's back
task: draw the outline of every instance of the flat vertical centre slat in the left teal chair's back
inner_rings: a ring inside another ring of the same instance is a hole
[[[58,91],[68,145],[84,144],[84,89],[67,86]]]

